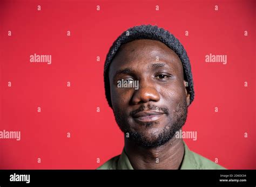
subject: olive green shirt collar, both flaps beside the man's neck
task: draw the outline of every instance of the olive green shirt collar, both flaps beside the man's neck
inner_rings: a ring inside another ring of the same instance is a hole
[[[184,143],[184,157],[183,157],[183,161],[181,163],[180,169],[197,169],[198,164],[194,159],[193,153],[187,147],[184,141],[183,143]],[[119,160],[117,163],[117,169],[133,169],[124,148],[123,148],[122,154],[119,157]]]

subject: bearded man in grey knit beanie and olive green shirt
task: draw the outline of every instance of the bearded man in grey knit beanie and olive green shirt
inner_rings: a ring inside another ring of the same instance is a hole
[[[127,86],[134,82],[138,89]],[[168,31],[141,25],[120,35],[107,54],[104,83],[125,146],[98,169],[225,169],[176,137],[194,89],[186,51]]]

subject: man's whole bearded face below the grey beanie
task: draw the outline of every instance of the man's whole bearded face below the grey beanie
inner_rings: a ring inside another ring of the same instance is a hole
[[[139,89],[118,88],[119,80],[139,81]],[[120,129],[143,147],[158,147],[184,125],[190,95],[176,53],[160,41],[122,45],[109,70],[111,102]]]

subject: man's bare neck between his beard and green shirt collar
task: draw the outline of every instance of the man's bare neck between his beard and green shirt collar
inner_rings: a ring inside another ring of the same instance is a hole
[[[125,152],[133,169],[179,169],[184,156],[183,139],[175,136],[156,148],[140,147],[125,138]]]

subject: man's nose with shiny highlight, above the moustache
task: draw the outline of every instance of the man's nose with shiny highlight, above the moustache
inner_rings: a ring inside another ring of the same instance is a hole
[[[153,85],[141,85],[139,89],[135,90],[132,97],[132,104],[147,103],[149,101],[157,102],[160,99],[160,95]]]

